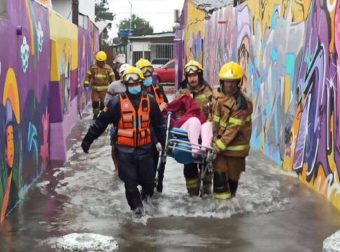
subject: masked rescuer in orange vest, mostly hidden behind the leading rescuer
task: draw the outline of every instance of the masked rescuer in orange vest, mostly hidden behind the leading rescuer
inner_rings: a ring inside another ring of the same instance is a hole
[[[140,59],[136,62],[136,66],[142,70],[145,80],[143,81],[142,90],[148,92],[156,98],[156,102],[159,106],[161,112],[168,107],[168,97],[166,97],[163,87],[157,83],[154,83],[152,80],[152,73],[154,73],[154,66],[152,66],[151,62],[147,59]],[[164,125],[164,130],[166,130],[166,125]],[[154,134],[152,135],[152,141],[154,143],[152,155],[154,158],[155,170],[158,165],[158,157],[159,157],[159,149],[160,146],[165,146],[165,143],[161,143]],[[165,164],[161,163],[161,167],[159,167],[158,171],[158,181],[156,185],[156,189],[158,193],[162,193],[163,191],[163,178],[164,178],[164,169]]]

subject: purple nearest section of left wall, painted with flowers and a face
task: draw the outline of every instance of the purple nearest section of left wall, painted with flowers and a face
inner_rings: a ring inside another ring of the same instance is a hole
[[[15,12],[0,19],[0,221],[49,158],[48,12],[28,0],[7,1],[7,10]]]

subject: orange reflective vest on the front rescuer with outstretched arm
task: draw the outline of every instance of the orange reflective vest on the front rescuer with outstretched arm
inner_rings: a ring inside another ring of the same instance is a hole
[[[128,96],[120,94],[121,120],[118,123],[117,144],[122,146],[144,146],[151,144],[150,99],[142,92],[140,106],[135,110]]]

